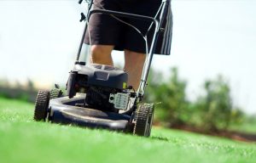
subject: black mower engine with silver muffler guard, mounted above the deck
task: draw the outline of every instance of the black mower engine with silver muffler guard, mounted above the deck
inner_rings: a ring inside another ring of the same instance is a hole
[[[86,93],[84,106],[98,110],[127,110],[131,93],[127,92],[128,74],[109,65],[74,65],[67,82],[67,96]]]

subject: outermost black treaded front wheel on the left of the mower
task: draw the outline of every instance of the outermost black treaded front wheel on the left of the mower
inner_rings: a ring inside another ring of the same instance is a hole
[[[49,91],[39,90],[36,99],[34,120],[45,121],[47,110],[49,106]]]

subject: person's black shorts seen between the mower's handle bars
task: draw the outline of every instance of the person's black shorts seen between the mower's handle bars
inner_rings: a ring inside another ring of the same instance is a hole
[[[104,8],[119,12],[140,14],[154,17],[160,8],[161,0],[94,0],[93,8]],[[119,18],[134,25],[143,35],[148,31],[150,22],[130,18]],[[108,14],[92,14],[84,42],[91,45],[114,45],[116,50],[131,50],[137,53],[146,52],[143,37],[131,26],[116,20]],[[148,46],[154,34],[154,28],[148,33]]]

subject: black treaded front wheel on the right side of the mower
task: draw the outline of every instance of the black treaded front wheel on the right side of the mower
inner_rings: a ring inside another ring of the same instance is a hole
[[[148,130],[151,128],[149,125],[149,110],[147,104],[139,104],[136,111],[135,125],[133,128],[133,134],[138,136],[148,137]]]

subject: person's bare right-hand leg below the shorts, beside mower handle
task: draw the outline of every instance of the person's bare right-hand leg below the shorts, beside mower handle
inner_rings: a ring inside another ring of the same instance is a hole
[[[141,81],[145,59],[145,53],[125,50],[125,71],[129,75],[128,86],[132,86],[135,90],[137,90]]]

